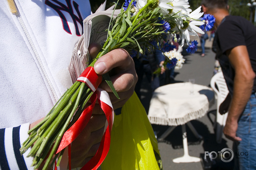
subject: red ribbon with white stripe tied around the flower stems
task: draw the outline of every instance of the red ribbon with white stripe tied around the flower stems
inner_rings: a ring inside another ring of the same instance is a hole
[[[89,82],[88,82],[89,80]],[[95,73],[93,67],[88,67],[84,70],[81,76],[78,78],[77,81],[81,81],[87,84],[93,91],[93,88],[97,89],[98,85],[102,81],[101,75]],[[93,86],[93,87],[92,87]],[[91,97],[91,105],[88,106],[80,115],[78,120],[64,133],[59,148],[56,153],[60,152],[67,146],[70,146],[71,142],[76,139],[79,133],[86,127],[87,123],[90,121],[92,110],[96,103],[96,98],[98,98],[98,102],[106,115],[108,126],[107,129],[102,137],[100,147],[97,153],[92,157],[90,161],[87,162],[86,165],[82,167],[81,170],[96,170],[101,165],[103,160],[106,158],[107,153],[110,148],[110,137],[111,137],[111,130],[113,124],[113,108],[107,105],[105,102],[100,100],[101,91],[99,95],[93,93]],[[109,101],[110,102],[110,101]],[[71,151],[69,148],[69,169],[71,169]]]

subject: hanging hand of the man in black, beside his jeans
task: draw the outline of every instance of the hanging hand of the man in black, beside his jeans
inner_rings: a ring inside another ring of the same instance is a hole
[[[232,121],[227,118],[226,125],[223,128],[224,135],[232,141],[242,141],[240,137],[236,136],[237,127],[237,121]]]

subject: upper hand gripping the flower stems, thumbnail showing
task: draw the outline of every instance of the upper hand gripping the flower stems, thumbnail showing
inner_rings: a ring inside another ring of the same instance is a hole
[[[91,58],[95,58],[100,47],[97,44],[91,44],[89,50]],[[108,92],[114,109],[122,107],[133,94],[138,79],[129,53],[121,48],[112,50],[97,60],[94,69],[97,74],[111,71],[110,78],[120,99],[116,98],[106,82],[102,82],[100,88]]]

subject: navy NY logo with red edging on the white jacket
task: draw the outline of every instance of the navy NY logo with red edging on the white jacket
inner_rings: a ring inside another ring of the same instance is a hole
[[[82,26],[83,19],[80,14],[80,11],[78,10],[78,4],[75,1],[73,1],[74,9],[76,10],[77,15],[78,15],[78,16],[76,16],[74,14],[74,11],[72,8],[71,0],[65,0],[65,1],[66,1],[67,5],[59,2],[58,0],[45,0],[45,4],[50,6],[51,8],[53,8],[59,14],[59,17],[62,20],[63,29],[67,33],[72,34],[71,30],[69,28],[67,19],[66,19],[65,15],[62,13],[62,11],[69,13],[69,15],[71,16],[71,18],[73,20],[74,26],[76,28],[76,35],[81,36],[81,34],[79,33],[79,29],[78,29],[78,23]]]

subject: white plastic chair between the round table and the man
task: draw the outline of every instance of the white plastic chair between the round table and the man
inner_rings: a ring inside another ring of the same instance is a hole
[[[223,134],[222,131],[223,131],[223,127],[226,124],[226,119],[228,115],[228,113],[225,113],[224,115],[221,115],[219,113],[219,105],[221,105],[221,103],[224,101],[224,99],[227,97],[227,94],[228,94],[227,84],[222,72],[218,72],[212,77],[211,87],[213,91],[216,93],[215,97],[217,99],[217,112],[216,112],[216,120],[214,122],[214,128],[216,131],[216,142],[219,144],[222,141],[222,134]]]

